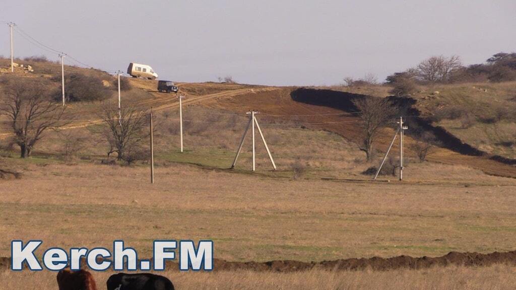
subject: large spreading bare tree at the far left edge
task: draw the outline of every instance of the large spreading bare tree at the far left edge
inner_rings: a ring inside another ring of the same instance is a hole
[[[6,77],[2,83],[0,115],[6,116],[20,156],[29,157],[50,128],[64,126],[65,107],[51,100],[50,87],[39,79]]]

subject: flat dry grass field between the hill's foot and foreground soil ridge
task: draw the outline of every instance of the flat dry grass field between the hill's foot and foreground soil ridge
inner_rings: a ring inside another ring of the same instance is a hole
[[[215,257],[230,261],[514,247],[516,182],[457,166],[414,164],[403,183],[372,183],[171,165],[156,168],[154,185],[144,166],[18,166],[23,178],[2,182],[0,256],[9,255],[10,240],[34,238],[63,248],[124,239],[142,257],[155,238],[209,238]]]

